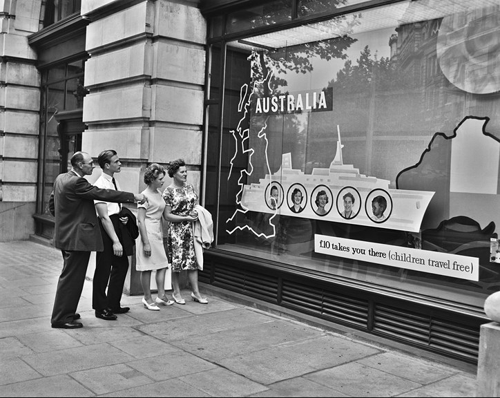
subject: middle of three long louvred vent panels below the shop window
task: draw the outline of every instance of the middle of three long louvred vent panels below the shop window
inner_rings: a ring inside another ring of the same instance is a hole
[[[290,281],[282,281],[282,305],[300,312],[309,312],[323,319],[356,325],[368,324],[368,301],[325,291]]]

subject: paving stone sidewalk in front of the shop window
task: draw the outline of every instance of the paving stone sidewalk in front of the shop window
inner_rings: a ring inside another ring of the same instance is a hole
[[[84,328],[52,329],[61,266],[51,247],[0,243],[1,397],[476,396],[473,371],[210,294],[160,312],[123,296],[131,311],[104,321],[86,281]]]

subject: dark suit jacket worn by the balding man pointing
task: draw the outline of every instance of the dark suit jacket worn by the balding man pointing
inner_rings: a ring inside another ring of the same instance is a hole
[[[73,171],[59,174],[50,193],[49,211],[55,216],[54,246],[81,252],[102,252],[102,236],[94,200],[135,202],[134,194],[94,187]]]

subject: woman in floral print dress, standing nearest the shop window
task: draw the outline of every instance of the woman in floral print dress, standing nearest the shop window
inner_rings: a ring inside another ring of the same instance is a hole
[[[170,221],[166,238],[166,254],[172,269],[173,300],[178,304],[185,304],[182,299],[179,275],[187,270],[191,284],[191,298],[198,303],[208,301],[202,297],[198,289],[198,263],[196,263],[193,222],[198,220],[198,213],[194,210],[198,195],[193,185],[186,182],[187,171],[184,160],[177,159],[167,167],[172,184],[163,191],[166,203],[165,218]]]

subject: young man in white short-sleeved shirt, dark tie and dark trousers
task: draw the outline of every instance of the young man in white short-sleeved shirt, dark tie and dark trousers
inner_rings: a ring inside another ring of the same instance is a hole
[[[119,184],[114,174],[121,171],[122,163],[116,151],[113,149],[102,151],[97,157],[97,162],[102,169],[102,175],[95,182],[95,187],[119,191]],[[115,314],[124,314],[130,310],[130,307],[120,305],[128,271],[128,256],[124,253],[124,247],[117,235],[119,222],[126,224],[128,218],[119,216],[122,208],[119,203],[102,200],[94,202],[99,216],[104,251],[96,253],[92,307],[97,318],[113,321],[117,319]]]

